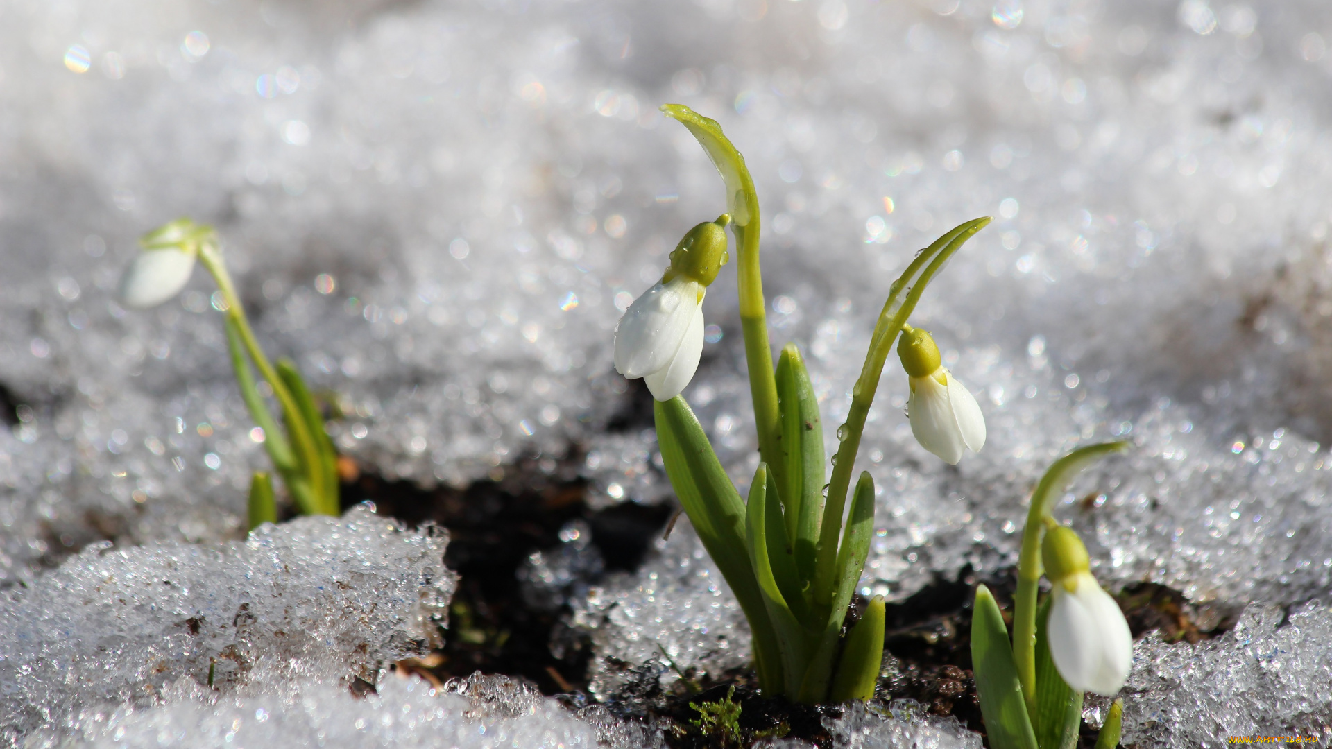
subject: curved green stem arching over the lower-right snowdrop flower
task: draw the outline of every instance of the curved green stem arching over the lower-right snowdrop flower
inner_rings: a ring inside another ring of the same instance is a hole
[[[1012,660],[1018,666],[1018,681],[1030,714],[1036,713],[1036,593],[1042,574],[1040,541],[1046,536],[1046,520],[1052,521],[1050,512],[1055,501],[1084,468],[1127,449],[1128,442],[1099,442],[1078,448],[1056,460],[1031,494],[1027,526],[1022,530],[1022,550],[1018,552],[1018,592],[1012,612]]]

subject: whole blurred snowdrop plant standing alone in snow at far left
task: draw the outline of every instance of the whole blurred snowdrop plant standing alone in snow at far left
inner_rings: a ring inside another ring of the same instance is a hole
[[[290,360],[274,367],[260,348],[245,317],[236,285],[222,261],[217,232],[189,219],[164,224],[140,240],[141,252],[121,279],[120,299],[131,309],[148,309],[174,297],[189,283],[194,263],[201,263],[217,283],[224,312],[226,343],[241,397],[254,422],[264,432],[264,448],[282,484],[304,514],[340,514],[337,453],[324,430],[324,418],[310,389]],[[265,397],[260,393],[250,364],[272,389],[282,410],[278,428]],[[273,484],[268,473],[256,472],[250,482],[249,526],[277,520]]]

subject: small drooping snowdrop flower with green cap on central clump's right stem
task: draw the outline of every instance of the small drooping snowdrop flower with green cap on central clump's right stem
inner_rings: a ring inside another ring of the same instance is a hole
[[[980,452],[986,444],[986,418],[971,392],[943,368],[939,347],[930,333],[904,328],[898,357],[910,377],[907,417],[920,446],[950,465],[958,465],[967,448]]]

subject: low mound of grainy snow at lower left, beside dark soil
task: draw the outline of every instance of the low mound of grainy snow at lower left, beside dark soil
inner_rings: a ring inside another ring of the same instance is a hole
[[[445,616],[446,542],[354,509],[218,546],[84,549],[0,600],[0,742],[194,693],[373,684]]]

